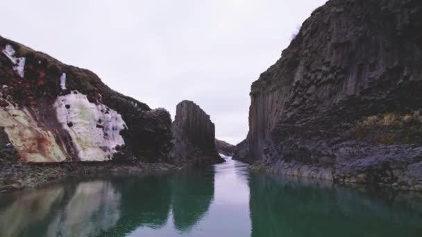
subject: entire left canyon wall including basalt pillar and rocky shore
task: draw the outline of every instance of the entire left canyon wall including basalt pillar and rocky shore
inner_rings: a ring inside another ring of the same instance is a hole
[[[113,91],[86,69],[0,37],[0,189],[76,173],[171,169],[221,159],[210,116]]]

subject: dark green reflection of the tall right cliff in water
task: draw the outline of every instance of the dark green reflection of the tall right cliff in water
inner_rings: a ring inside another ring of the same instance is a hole
[[[249,186],[252,236],[400,236],[403,233],[418,236],[417,232],[422,233],[420,213],[412,209],[408,197],[407,201],[400,201],[400,197],[391,198],[387,193],[362,194],[260,173],[251,174]]]

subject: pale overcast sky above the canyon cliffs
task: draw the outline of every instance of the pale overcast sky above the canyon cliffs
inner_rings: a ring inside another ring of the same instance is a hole
[[[94,71],[126,96],[164,107],[193,100],[216,137],[248,133],[251,83],[326,0],[13,0],[0,35]]]

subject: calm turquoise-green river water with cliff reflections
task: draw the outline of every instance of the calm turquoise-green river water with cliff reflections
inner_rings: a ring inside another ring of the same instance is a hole
[[[422,198],[237,161],[0,194],[0,236],[422,236]]]

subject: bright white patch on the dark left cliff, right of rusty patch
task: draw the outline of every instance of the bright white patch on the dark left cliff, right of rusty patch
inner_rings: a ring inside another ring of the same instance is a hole
[[[58,122],[69,132],[81,161],[110,160],[116,147],[124,145],[120,131],[126,123],[115,110],[90,103],[78,91],[58,96],[54,107]]]

